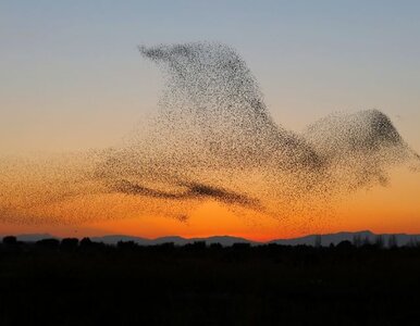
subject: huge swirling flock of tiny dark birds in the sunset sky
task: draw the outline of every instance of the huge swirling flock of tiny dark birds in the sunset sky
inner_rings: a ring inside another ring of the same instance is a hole
[[[148,203],[178,218],[205,200],[287,217],[361,187],[386,185],[390,167],[419,161],[376,110],[331,114],[301,134],[277,125],[245,61],[228,46],[193,42],[139,51],[166,77],[155,118],[120,147],[64,160],[77,161],[72,171],[53,167],[61,163],[3,162],[1,178],[9,188],[0,193],[0,218],[39,222],[46,210],[34,208],[42,205],[54,208],[59,223],[119,217],[113,210],[89,213],[100,196],[114,206],[136,198],[139,209]],[[25,174],[36,181],[28,185]],[[18,204],[12,197],[21,198]],[[86,198],[90,211],[60,217],[63,202]],[[25,214],[15,213],[25,205]]]

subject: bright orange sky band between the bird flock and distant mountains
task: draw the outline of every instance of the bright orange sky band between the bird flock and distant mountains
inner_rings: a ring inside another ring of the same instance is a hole
[[[387,187],[360,189],[344,198],[333,198],[331,203],[326,203],[329,208],[319,210],[316,206],[323,203],[314,202],[313,209],[281,217],[282,211],[287,208],[274,208],[279,212],[276,216],[214,200],[178,201],[89,192],[89,184],[78,185],[69,176],[65,179],[64,176],[72,173],[69,170],[61,173],[58,166],[62,162],[57,164],[53,165],[51,161],[39,174],[29,173],[27,168],[21,172],[17,164],[13,165],[15,171],[8,170],[9,179],[5,176],[3,184],[10,188],[3,187],[0,200],[3,205],[9,203],[14,208],[13,214],[17,218],[13,220],[13,215],[7,218],[7,211],[0,212],[0,235],[49,233],[59,237],[78,238],[103,235],[145,238],[228,235],[267,241],[308,234],[363,229],[420,234],[420,174],[405,168],[393,171]],[[79,173],[77,167],[75,171]],[[49,175],[50,180],[47,177]],[[27,184],[24,191],[21,186],[23,183]],[[65,187],[65,191],[74,188],[75,193],[79,195],[49,200],[48,196],[54,195],[54,191],[64,193],[62,187]],[[97,189],[97,186],[94,188]],[[39,199],[46,203],[34,204]]]

